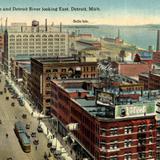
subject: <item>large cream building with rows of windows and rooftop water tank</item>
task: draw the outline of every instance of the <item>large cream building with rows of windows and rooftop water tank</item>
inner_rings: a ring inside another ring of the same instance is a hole
[[[6,30],[4,33],[5,69],[10,68],[10,58],[17,55],[63,56],[68,55],[68,33],[55,31],[53,26],[39,26],[32,21],[32,26],[22,26],[21,30]],[[9,70],[10,71],[10,70]]]

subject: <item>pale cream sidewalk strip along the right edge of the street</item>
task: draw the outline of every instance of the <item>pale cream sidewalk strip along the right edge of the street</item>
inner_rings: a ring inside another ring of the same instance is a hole
[[[4,73],[3,73],[4,74]],[[5,74],[4,74],[5,75]],[[6,77],[6,80],[11,84],[11,86],[13,87],[13,89],[16,91],[16,93],[18,94],[18,96],[23,97],[24,103],[25,103],[25,108],[28,110],[28,112],[30,114],[33,115],[33,117],[46,117],[45,115],[35,111],[31,106],[30,106],[30,102],[28,101],[28,99],[25,98],[25,96],[20,92],[20,89],[16,86],[16,84],[11,81],[9,79],[9,77]],[[62,157],[65,160],[72,160],[72,158],[68,155],[67,151],[65,150],[65,148],[62,146],[62,144],[60,143],[60,141],[50,132],[50,130],[47,128],[47,126],[45,125],[44,122],[40,121],[40,125],[43,129],[43,133],[46,135],[47,139],[49,142],[52,142],[53,146],[56,146],[56,150],[61,152]],[[52,138],[54,137],[54,138]]]

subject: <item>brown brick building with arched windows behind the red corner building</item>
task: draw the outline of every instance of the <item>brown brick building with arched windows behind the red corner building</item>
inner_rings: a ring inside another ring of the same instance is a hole
[[[94,57],[31,58],[31,94],[40,109],[50,110],[53,79],[95,79],[98,77]],[[43,108],[44,107],[44,108]]]

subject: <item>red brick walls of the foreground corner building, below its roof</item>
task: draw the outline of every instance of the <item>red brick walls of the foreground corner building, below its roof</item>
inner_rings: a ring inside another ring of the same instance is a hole
[[[156,159],[156,120],[154,116],[108,120],[92,116],[76,99],[52,81],[52,110],[64,126],[78,123],[72,133],[96,160]],[[82,93],[79,98],[83,98]]]

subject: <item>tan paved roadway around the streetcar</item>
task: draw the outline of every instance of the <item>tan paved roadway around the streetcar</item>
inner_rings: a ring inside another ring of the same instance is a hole
[[[0,91],[4,91],[5,77],[0,75]],[[6,100],[6,96],[9,96],[9,100]],[[12,107],[11,103],[15,102],[15,106]],[[22,118],[22,114],[27,114],[27,119]],[[44,160],[44,152],[49,153],[47,148],[47,139],[43,133],[38,133],[36,131],[38,126],[38,121],[36,118],[33,118],[25,109],[25,107],[19,106],[16,99],[11,98],[11,94],[3,93],[0,95],[0,160],[6,160],[8,157],[12,157],[13,160]],[[21,149],[19,141],[14,133],[14,123],[17,120],[22,120],[25,124],[30,124],[30,129],[28,133],[37,132],[37,139],[39,139],[39,145],[37,150],[33,144],[33,138],[31,138],[32,146],[31,152],[25,153]],[[6,133],[8,133],[8,138],[6,138]]]

